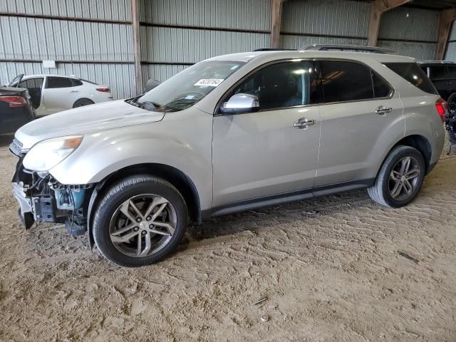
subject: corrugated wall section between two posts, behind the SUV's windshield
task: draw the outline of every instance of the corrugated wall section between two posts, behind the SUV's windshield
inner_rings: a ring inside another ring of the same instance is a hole
[[[142,0],[140,8],[145,80],[165,81],[205,58],[269,46],[269,0]]]

